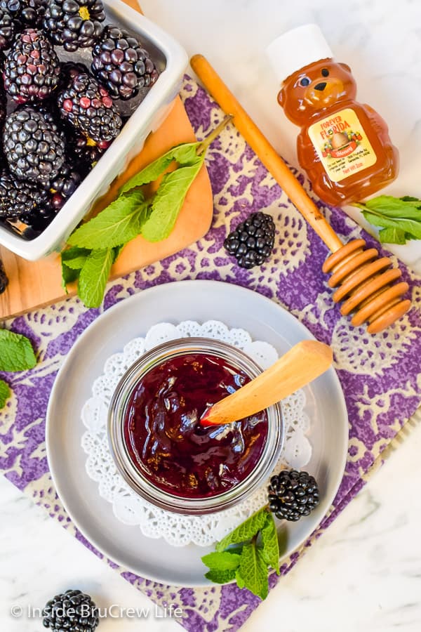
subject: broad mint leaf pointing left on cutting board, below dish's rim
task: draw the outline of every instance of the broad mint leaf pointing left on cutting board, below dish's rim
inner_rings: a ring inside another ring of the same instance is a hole
[[[140,191],[118,197],[96,217],[82,224],[68,239],[71,246],[107,249],[130,242],[140,234],[147,204]]]

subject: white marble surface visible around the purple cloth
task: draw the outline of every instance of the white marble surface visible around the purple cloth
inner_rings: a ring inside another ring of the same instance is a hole
[[[418,0],[143,0],[145,13],[203,53],[286,159],[297,129],[276,105],[263,50],[284,29],[316,21],[338,60],[352,66],[359,98],[389,123],[401,152],[394,195],[421,197],[421,4]],[[399,256],[421,271],[420,242]],[[392,455],[340,518],[249,619],[245,632],[406,632],[421,629],[421,428]],[[170,632],[152,604],[0,478],[0,629],[41,630],[27,617],[54,593],[79,586],[100,607],[149,608],[147,619],[107,619],[99,630]],[[22,607],[20,618],[11,606]]]

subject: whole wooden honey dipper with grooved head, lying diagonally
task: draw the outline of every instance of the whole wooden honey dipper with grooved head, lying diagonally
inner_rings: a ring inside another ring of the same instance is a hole
[[[410,300],[403,301],[401,298],[408,291],[408,284],[403,281],[394,283],[401,277],[401,270],[388,270],[392,265],[391,259],[377,258],[377,250],[365,249],[366,242],[363,239],[354,239],[348,244],[343,244],[208,60],[203,55],[194,55],[190,64],[222,110],[226,114],[232,114],[236,128],[305,220],[332,251],[322,269],[323,272],[332,273],[328,281],[329,286],[339,286],[333,294],[333,300],[345,300],[340,309],[341,314],[347,316],[354,312],[352,324],[358,327],[363,322],[368,322],[370,334],[377,334],[403,316],[410,308]]]

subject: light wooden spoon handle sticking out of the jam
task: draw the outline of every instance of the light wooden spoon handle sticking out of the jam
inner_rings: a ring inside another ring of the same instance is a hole
[[[319,377],[332,360],[328,345],[315,340],[302,341],[246,386],[210,407],[201,425],[232,423],[264,410]]]

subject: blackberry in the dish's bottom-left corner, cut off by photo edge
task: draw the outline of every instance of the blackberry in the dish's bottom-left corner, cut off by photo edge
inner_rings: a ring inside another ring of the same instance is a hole
[[[0,173],[0,218],[20,219],[26,222],[31,213],[39,213],[41,209],[51,209],[51,198],[48,192],[36,185],[23,182],[4,170]]]

